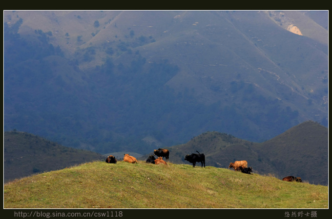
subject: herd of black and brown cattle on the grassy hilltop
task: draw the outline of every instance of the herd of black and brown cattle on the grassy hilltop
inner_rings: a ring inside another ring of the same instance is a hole
[[[192,164],[192,167],[196,166],[197,162],[200,162],[202,164],[202,167],[205,167],[205,155],[201,154],[196,150],[198,154],[192,153],[192,154],[187,154],[185,156],[185,161],[188,161],[189,163]],[[138,163],[137,159],[133,156],[130,156],[129,154],[124,154],[124,160],[125,162],[128,163]],[[157,158],[155,158],[157,156]],[[150,164],[165,164],[167,165],[166,161],[163,160],[163,158],[168,161],[169,159],[169,150],[163,149],[163,148],[158,148],[158,150],[153,150],[153,155],[149,155],[148,158],[146,159],[146,163]],[[116,164],[117,160],[115,159],[114,156],[109,155],[106,158],[106,163],[108,164]],[[247,161],[235,161],[234,163],[229,163],[228,168],[233,168],[235,171],[241,171],[242,173],[246,174],[251,174],[252,168],[249,166],[248,167],[248,162]],[[282,179],[283,181],[286,182],[299,182],[302,183],[302,180],[300,177],[293,177],[293,176],[288,176]]]

